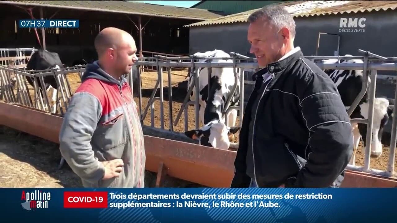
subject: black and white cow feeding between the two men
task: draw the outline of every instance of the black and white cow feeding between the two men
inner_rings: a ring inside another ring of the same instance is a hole
[[[212,62],[230,62],[233,60],[220,60],[216,58],[230,58],[230,55],[222,50],[213,50],[207,52],[198,52],[195,56],[202,56],[212,58]],[[208,60],[198,60],[198,62],[206,62]],[[225,114],[222,113],[226,104],[227,98],[231,94],[235,83],[233,68],[212,68],[210,79],[210,94],[208,95],[208,68],[199,69],[199,123],[204,125],[200,129],[193,129],[185,132],[185,135],[198,139],[199,144],[203,146],[210,146],[227,150],[230,147],[230,141],[234,138],[234,134],[239,131],[240,127],[235,127],[237,119],[237,111],[232,110],[228,116],[228,123],[225,124]],[[190,71],[190,70],[189,70]],[[188,86],[195,81],[195,73],[190,75]],[[190,72],[189,72],[190,73]],[[239,75],[239,72],[237,72]],[[240,100],[240,77],[237,80],[237,88],[232,95],[229,106],[235,106]],[[190,95],[190,100],[195,101],[196,87]]]

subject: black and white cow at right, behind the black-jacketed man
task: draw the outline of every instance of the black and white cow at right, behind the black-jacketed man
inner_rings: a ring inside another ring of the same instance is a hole
[[[351,56],[351,55],[345,55]],[[322,60],[323,63],[337,63],[337,60]],[[340,63],[364,63],[362,60],[352,59],[352,60],[340,60]],[[348,109],[353,101],[360,93],[362,85],[362,79],[364,78],[362,70],[324,70],[333,82],[337,85],[339,94],[341,95],[343,104],[345,104]],[[368,79],[370,82],[370,79]],[[364,86],[365,87],[365,86]],[[358,106],[351,114],[350,118],[368,118],[368,108],[369,108],[369,84],[368,89],[363,98],[360,100]],[[374,119],[372,127],[372,143],[371,143],[371,157],[380,157],[382,155],[382,133],[389,117],[393,114],[393,105],[389,105],[389,100],[386,98],[375,98],[374,101]],[[366,124],[355,124],[353,125],[353,135],[354,135],[354,152],[357,151],[358,143],[360,142],[360,137],[366,145]],[[353,154],[353,158],[354,158]],[[352,159],[353,160],[353,159]],[[354,163],[351,163],[354,164]]]

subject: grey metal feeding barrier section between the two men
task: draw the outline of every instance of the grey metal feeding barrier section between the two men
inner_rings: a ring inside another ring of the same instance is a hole
[[[229,108],[229,104],[231,101],[231,96],[234,94],[234,92],[237,89],[237,84],[240,84],[240,95],[241,95],[241,91],[244,91],[244,79],[241,79],[240,76],[241,74],[244,73],[244,69],[241,69],[241,67],[237,67],[237,63],[241,63],[239,61],[241,60],[249,60],[249,61],[254,61],[254,58],[248,58],[247,56],[243,56],[241,54],[237,54],[237,53],[230,53],[232,55],[231,58],[216,58],[218,60],[233,60],[233,62],[231,62],[231,66],[234,68],[233,73],[234,73],[234,79],[235,79],[235,84],[233,85],[233,88],[231,90],[230,96],[227,98],[227,101],[225,103],[224,109],[223,109],[223,113],[226,112],[226,117],[225,117],[225,121],[227,121],[227,114],[229,112],[231,112],[231,110],[233,109],[240,109],[243,110],[243,103],[241,103],[241,106],[232,106]],[[237,59],[238,58],[238,59]],[[169,97],[169,110],[170,110],[170,130],[173,131],[173,126],[176,126],[181,115],[182,112],[185,112],[185,131],[187,131],[187,108],[190,104],[195,105],[196,108],[198,108],[199,105],[199,100],[198,97],[196,97],[195,102],[191,102],[189,101],[189,95],[193,92],[193,88],[195,86],[199,85],[199,79],[198,79],[198,75],[200,72],[200,68],[204,68],[204,67],[218,67],[218,68],[222,68],[225,67],[226,65],[230,65],[230,63],[213,63],[211,62],[211,60],[213,60],[214,58],[205,58],[205,57],[201,57],[201,56],[195,56],[195,55],[190,55],[189,57],[166,57],[166,56],[160,56],[160,55],[155,55],[154,57],[141,57],[139,58],[140,60],[136,62],[137,65],[139,66],[152,66],[152,67],[157,67],[157,72],[158,72],[158,79],[156,81],[156,84],[154,86],[154,89],[150,95],[149,98],[149,102],[146,105],[145,110],[140,111],[141,115],[142,115],[142,119],[144,120],[147,112],[149,110],[150,107],[150,111],[151,111],[151,123],[152,123],[152,127],[154,127],[154,102],[155,101],[160,101],[160,122],[161,122],[161,127],[160,129],[164,129],[164,95],[163,95],[163,77],[162,77],[162,70],[163,67],[166,67],[168,69],[168,97]],[[195,62],[195,60],[198,59],[204,59],[207,62],[205,63],[199,63],[199,62]],[[142,61],[141,61],[142,60]],[[152,60],[152,61],[150,61]],[[182,62],[185,60],[189,60],[189,62]],[[248,62],[246,62],[247,64],[249,64]],[[199,64],[199,65],[198,65]],[[250,63],[251,66],[249,66],[248,68],[256,68],[257,65],[255,65],[255,63]],[[171,71],[172,71],[172,67],[178,67],[178,68],[190,68],[190,75],[194,75],[194,81],[192,81],[191,85],[188,86],[187,89],[187,94],[183,100],[182,106],[177,114],[177,117],[175,118],[175,121],[173,121],[173,115],[172,115],[172,75],[171,75]],[[227,66],[226,66],[227,67]],[[195,68],[199,68],[199,69],[195,69]],[[239,71],[240,70],[240,71]],[[212,69],[208,69],[208,94],[210,94],[210,79],[212,76]],[[140,78],[139,78],[140,79]],[[156,95],[157,90],[160,90],[160,97],[159,98],[155,98],[154,96]],[[141,89],[140,89],[141,91]],[[199,88],[195,88],[195,94],[199,95]],[[141,95],[140,95],[141,96]],[[241,97],[240,100],[243,100],[244,96]],[[141,98],[139,99],[141,101]],[[140,107],[141,108],[141,107]],[[242,120],[240,120],[240,125],[242,123]],[[196,124],[196,128],[199,128],[199,110],[196,109],[195,110],[195,124]]]

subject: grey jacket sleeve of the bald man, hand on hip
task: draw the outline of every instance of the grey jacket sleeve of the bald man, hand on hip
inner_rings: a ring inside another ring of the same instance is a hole
[[[91,137],[102,113],[100,101],[88,92],[75,93],[70,101],[59,135],[60,152],[71,169],[85,181],[98,183],[104,165],[94,158]]]

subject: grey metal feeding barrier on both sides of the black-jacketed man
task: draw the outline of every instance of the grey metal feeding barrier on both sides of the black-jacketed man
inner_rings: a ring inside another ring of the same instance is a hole
[[[392,133],[391,133],[391,146],[390,146],[390,152],[389,152],[389,163],[387,166],[387,171],[381,171],[377,169],[370,169],[370,148],[372,144],[372,126],[373,126],[373,117],[374,117],[374,100],[375,100],[375,89],[376,89],[376,79],[377,79],[377,71],[397,71],[397,57],[382,57],[378,56],[376,54],[373,54],[371,52],[367,52],[364,50],[359,50],[360,53],[364,53],[364,56],[310,56],[306,57],[309,60],[337,60],[338,62],[335,63],[323,63],[323,62],[315,62],[320,69],[341,69],[341,70],[362,70],[363,71],[363,88],[361,89],[360,93],[358,94],[357,98],[354,100],[353,104],[347,109],[347,112],[349,115],[353,113],[353,110],[358,106],[358,103],[366,93],[366,90],[369,85],[369,110],[368,110],[368,119],[351,119],[351,123],[363,123],[367,125],[367,134],[366,134],[366,146],[365,146],[365,159],[364,159],[364,167],[361,166],[356,166],[354,165],[354,158],[352,159],[353,162],[351,162],[347,169],[351,169],[354,171],[361,171],[361,172],[366,172],[366,173],[372,173],[375,175],[380,175],[380,176],[387,176],[390,177],[393,175],[394,172],[394,161],[395,161],[395,144],[396,144],[396,120],[393,118],[393,127],[392,127]],[[160,121],[161,121],[161,127],[160,129],[164,129],[164,108],[163,108],[163,79],[162,79],[162,69],[163,67],[168,68],[168,86],[169,86],[169,103],[170,103],[170,131],[173,131],[171,123],[173,125],[177,125],[179,118],[182,114],[182,112],[185,112],[185,131],[187,131],[187,107],[190,104],[195,105],[195,124],[196,128],[198,129],[199,123],[198,123],[198,97],[196,97],[195,101],[190,101],[189,96],[191,92],[193,91],[193,88],[198,85],[198,76],[200,69],[202,68],[209,68],[208,69],[208,79],[211,78],[211,73],[212,73],[212,68],[222,68],[222,67],[233,67],[234,68],[234,75],[235,75],[235,80],[239,79],[240,83],[240,103],[239,106],[232,106],[228,107],[228,103],[230,102],[230,98],[227,99],[227,104],[225,105],[224,108],[224,114],[225,115],[225,121],[227,121],[227,114],[231,112],[231,110],[235,109],[240,112],[240,123],[239,125],[241,126],[242,120],[243,120],[243,111],[244,111],[244,84],[249,83],[249,81],[244,81],[244,77],[241,77],[244,74],[245,69],[259,69],[258,64],[255,62],[255,58],[249,58],[247,56],[243,56],[240,54],[236,54],[233,52],[230,52],[231,57],[230,58],[216,58],[220,60],[232,60],[232,62],[222,62],[222,63],[215,63],[211,62],[211,59],[214,58],[206,58],[206,57],[198,57],[194,55],[190,55],[189,57],[166,57],[166,56],[154,56],[154,57],[141,57],[138,62],[136,62],[137,65],[139,66],[153,66],[157,67],[158,71],[158,80],[156,82],[156,85],[152,91],[152,94],[149,98],[148,104],[146,106],[145,111],[143,112],[143,116],[141,117],[142,120],[145,119],[146,114],[148,112],[148,108],[150,107],[151,109],[151,114],[152,114],[152,119],[151,119],[151,125],[154,127],[154,114],[153,114],[153,103],[156,100],[160,100]],[[201,60],[206,60],[206,62],[195,62],[195,60],[201,59]],[[351,59],[360,59],[364,63],[339,63],[339,60],[351,60]],[[148,61],[148,60],[153,60],[153,61]],[[183,62],[185,60],[188,60],[189,62]],[[241,62],[244,61],[245,62]],[[378,61],[378,62],[375,62]],[[388,61],[388,62],[386,62]],[[176,117],[176,120],[172,122],[172,95],[171,95],[171,70],[172,67],[178,67],[178,68],[190,68],[190,75],[194,75],[194,81],[192,81],[191,85],[188,86],[187,94],[185,96],[185,99],[183,100],[183,103],[181,105],[181,109],[179,110],[179,113]],[[195,69],[197,68],[197,69]],[[236,72],[236,69],[240,69],[240,72]],[[367,72],[369,71],[369,72]],[[369,75],[370,79],[372,81],[369,81]],[[210,81],[208,80],[208,83]],[[237,86],[237,81],[235,81],[235,85],[233,86],[233,90],[230,95],[234,93],[236,90]],[[160,85],[160,87],[159,87]],[[160,88],[160,89],[159,89]],[[208,86],[208,91],[210,89],[210,86]],[[160,90],[160,98],[154,98],[157,90]],[[196,88],[196,95],[198,95],[198,88]],[[397,90],[396,90],[396,96],[397,96]],[[141,98],[140,98],[141,100]],[[394,105],[396,107],[396,105]],[[396,117],[394,112],[393,117]],[[394,143],[393,143],[394,142]]]

